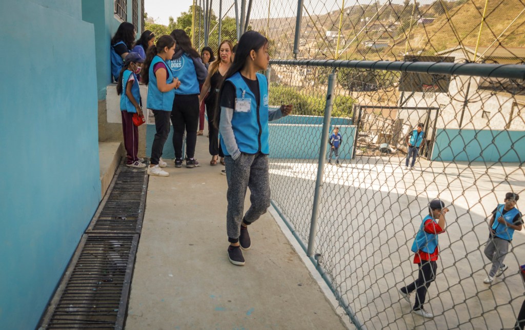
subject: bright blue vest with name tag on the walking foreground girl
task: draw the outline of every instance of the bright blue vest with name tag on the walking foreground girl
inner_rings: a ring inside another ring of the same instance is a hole
[[[247,154],[261,152],[267,155],[270,152],[268,145],[268,82],[266,77],[260,73],[257,73],[257,80],[259,81],[261,103],[259,108],[257,108],[254,93],[250,91],[239,72],[234,73],[232,77],[227,79],[227,81],[231,81],[234,84],[237,99],[241,99],[244,92],[244,98],[251,101],[249,112],[234,111],[232,129],[237,146],[241,152]],[[220,137],[220,145],[224,154],[229,155],[222,136]]]

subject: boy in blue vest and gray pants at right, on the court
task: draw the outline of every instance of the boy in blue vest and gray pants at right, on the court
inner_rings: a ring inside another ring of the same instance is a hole
[[[520,196],[514,193],[505,194],[504,204],[492,211],[489,222],[489,239],[485,246],[485,256],[492,262],[485,284],[491,284],[494,277],[499,277],[507,270],[508,266],[503,264],[505,256],[509,252],[509,243],[512,241],[514,231],[520,231],[523,225],[521,212],[516,207]]]

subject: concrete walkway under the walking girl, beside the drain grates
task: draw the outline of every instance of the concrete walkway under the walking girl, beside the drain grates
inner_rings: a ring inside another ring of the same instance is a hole
[[[346,328],[270,212],[249,228],[246,265],[228,261],[226,177],[206,135],[196,157],[150,176],[126,329]]]

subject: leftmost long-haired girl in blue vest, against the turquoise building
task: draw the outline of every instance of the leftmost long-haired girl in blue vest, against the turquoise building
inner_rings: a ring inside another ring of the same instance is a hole
[[[131,51],[135,42],[135,27],[129,22],[119,25],[117,32],[111,38],[111,76],[114,81],[119,80],[120,70],[124,65],[124,58]]]

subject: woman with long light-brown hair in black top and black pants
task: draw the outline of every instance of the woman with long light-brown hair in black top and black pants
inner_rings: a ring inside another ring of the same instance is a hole
[[[224,40],[220,43],[217,50],[217,59],[209,65],[208,77],[202,86],[201,95],[198,98],[200,104],[209,91],[205,103],[208,114],[209,154],[212,155],[212,160],[209,162],[210,165],[217,164],[218,156],[220,156],[220,164],[224,165],[224,155],[219,148],[219,130],[213,120],[215,111],[217,111],[219,88],[223,83],[226,72],[232,65],[232,47],[232,42],[229,40]]]

